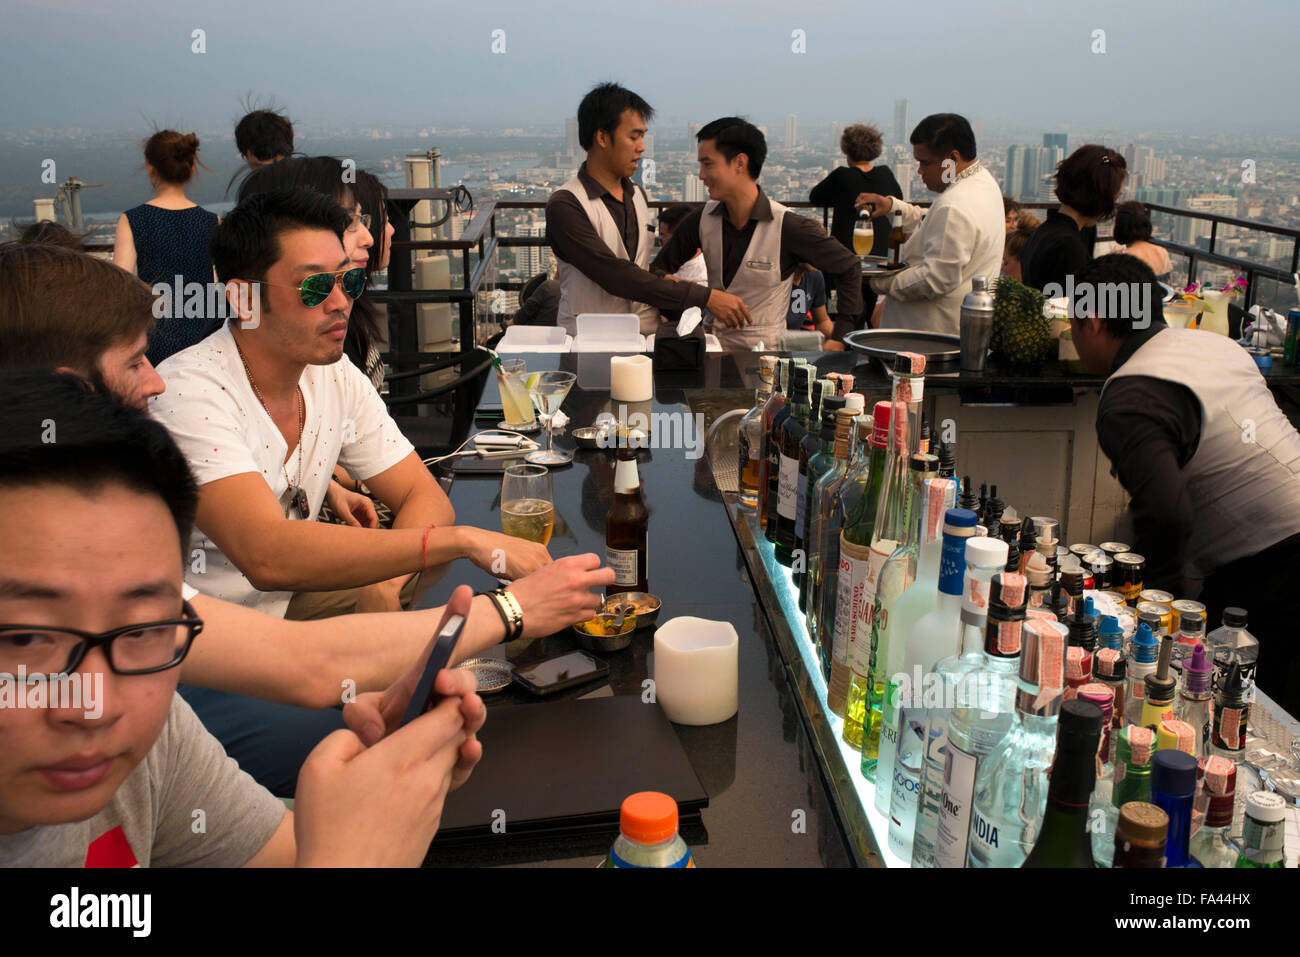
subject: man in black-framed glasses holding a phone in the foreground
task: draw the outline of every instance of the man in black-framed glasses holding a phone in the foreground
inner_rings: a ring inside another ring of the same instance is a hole
[[[473,677],[441,672],[443,701],[402,728],[413,670],[350,705],[356,732],[307,759],[295,820],[176,694],[203,641],[182,599],[185,458],[78,378],[0,373],[0,693],[20,675],[98,689],[0,697],[0,866],[419,865],[482,754]],[[447,614],[469,599],[458,589]]]

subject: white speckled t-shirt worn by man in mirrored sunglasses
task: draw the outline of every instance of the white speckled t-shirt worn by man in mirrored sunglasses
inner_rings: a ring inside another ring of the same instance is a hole
[[[150,411],[172,433],[200,486],[257,472],[286,505],[292,480],[307,493],[312,521],[335,464],[365,481],[413,451],[374,386],[347,358],[308,365],[299,380],[306,413],[300,481],[298,451],[285,459],[285,438],[248,382],[229,325],[166,359],[159,374],[166,391],[150,399]],[[292,593],[255,589],[199,528],[190,555],[185,577],[203,594],[283,616]]]

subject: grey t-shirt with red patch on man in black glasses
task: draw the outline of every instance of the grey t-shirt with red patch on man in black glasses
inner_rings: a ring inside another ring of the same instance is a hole
[[[86,820],[0,835],[0,866],[238,867],[283,817],[285,805],[173,694],[157,741],[108,806]]]

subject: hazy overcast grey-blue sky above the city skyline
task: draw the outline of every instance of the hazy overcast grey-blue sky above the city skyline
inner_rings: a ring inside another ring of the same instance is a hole
[[[216,129],[250,92],[304,129],[562,126],[616,79],[664,121],[888,131],[906,96],[913,122],[1300,130],[1295,0],[5,0],[0,23],[0,126]]]

